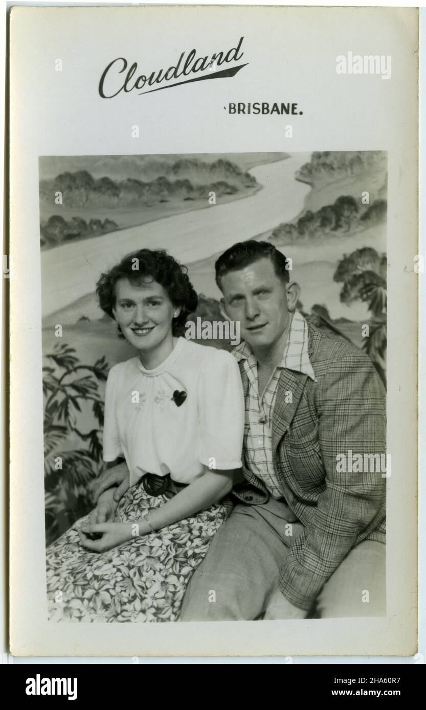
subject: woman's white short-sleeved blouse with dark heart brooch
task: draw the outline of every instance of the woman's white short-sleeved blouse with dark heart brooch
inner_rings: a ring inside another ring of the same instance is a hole
[[[243,432],[240,370],[226,351],[180,337],[153,370],[139,357],[110,369],[103,459],[124,456],[131,486],[146,473],[190,484],[203,465],[238,469]]]

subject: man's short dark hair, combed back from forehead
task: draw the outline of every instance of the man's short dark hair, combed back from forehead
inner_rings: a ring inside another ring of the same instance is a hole
[[[256,241],[255,239],[247,239],[247,241],[239,241],[238,244],[230,246],[229,249],[223,252],[215,263],[215,279],[220,290],[222,277],[230,271],[238,271],[245,266],[249,266],[259,259],[270,259],[274,265],[274,270],[278,278],[283,281],[289,281],[289,269],[287,266],[287,258],[269,241]]]

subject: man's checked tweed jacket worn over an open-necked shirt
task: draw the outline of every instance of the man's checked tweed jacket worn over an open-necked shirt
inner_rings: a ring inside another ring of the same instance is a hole
[[[380,467],[339,472],[336,458],[348,452],[363,458],[385,454],[385,388],[371,359],[356,346],[327,337],[310,323],[308,339],[316,382],[283,368],[272,414],[275,472],[289,508],[304,525],[279,584],[284,596],[303,609],[311,608],[355,545],[385,542],[386,478]],[[247,393],[243,363],[240,371]],[[247,468],[244,455],[243,464],[245,481],[235,484],[234,503],[265,503],[270,494]]]

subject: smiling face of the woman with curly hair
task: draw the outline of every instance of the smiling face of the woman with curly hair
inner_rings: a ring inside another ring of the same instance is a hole
[[[115,308],[112,309],[124,337],[141,351],[173,349],[171,321],[179,315],[169,294],[150,277],[140,285],[120,278],[115,284]]]

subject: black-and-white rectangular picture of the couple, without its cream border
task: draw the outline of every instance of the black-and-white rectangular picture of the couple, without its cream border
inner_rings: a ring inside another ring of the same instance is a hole
[[[50,622],[386,615],[386,151],[46,155]]]

